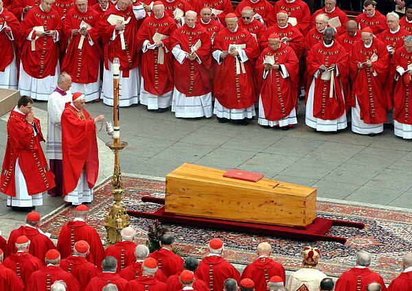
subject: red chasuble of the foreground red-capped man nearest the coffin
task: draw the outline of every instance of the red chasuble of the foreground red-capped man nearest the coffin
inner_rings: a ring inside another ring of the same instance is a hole
[[[196,276],[204,281],[210,289],[221,290],[226,279],[233,278],[240,282],[240,273],[224,258],[217,255],[204,257],[195,272]]]

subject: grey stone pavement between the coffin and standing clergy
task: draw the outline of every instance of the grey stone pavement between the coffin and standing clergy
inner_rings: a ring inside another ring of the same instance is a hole
[[[47,103],[36,101],[35,115],[47,132]],[[92,116],[113,108],[100,103],[87,105]],[[6,141],[9,114],[0,120],[0,157]],[[121,138],[128,147],[120,153],[122,173],[165,177],[184,162],[228,170],[240,168],[264,173],[268,179],[317,188],[318,199],[404,207],[412,211],[412,143],[393,135],[393,129],[376,137],[353,134],[314,133],[304,124],[288,131],[264,129],[256,121],[248,126],[220,124],[213,118],[175,118],[171,112],[147,112],[146,107],[121,108]],[[100,127],[100,125],[98,125]],[[100,181],[113,173],[113,153],[104,146],[111,140],[104,128],[100,138]],[[36,210],[42,216],[62,205],[59,197],[43,198]],[[3,236],[21,225],[25,213],[5,207],[0,195],[0,230]]]

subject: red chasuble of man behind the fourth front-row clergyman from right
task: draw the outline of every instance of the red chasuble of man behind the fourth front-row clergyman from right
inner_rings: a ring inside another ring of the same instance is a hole
[[[291,38],[286,45],[293,49],[298,59],[301,57],[302,53],[304,53],[304,36],[302,36],[299,29],[290,23],[288,23],[285,27],[279,27],[277,24],[269,27],[266,32],[265,47],[268,46],[267,39],[271,34],[277,34],[281,40],[285,37]]]

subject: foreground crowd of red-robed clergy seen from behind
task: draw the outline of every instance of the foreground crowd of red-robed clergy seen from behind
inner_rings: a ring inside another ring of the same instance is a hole
[[[122,240],[103,248],[93,227],[87,225],[89,209],[76,207],[75,218],[60,231],[57,245],[39,229],[41,216],[27,214],[26,224],[14,229],[6,242],[0,236],[1,291],[410,291],[412,253],[402,258],[403,272],[389,287],[369,268],[371,254],[356,253],[356,266],[344,272],[336,284],[317,269],[321,252],[307,246],[303,266],[286,282],[285,268],[275,260],[271,245],[260,242],[256,259],[242,274],[225,260],[224,242],[211,239],[206,255],[183,259],[174,253],[174,236],[165,233],[160,249],[149,252],[135,243],[135,230],[125,227]],[[375,266],[379,268],[379,266]],[[109,284],[110,283],[110,284]]]

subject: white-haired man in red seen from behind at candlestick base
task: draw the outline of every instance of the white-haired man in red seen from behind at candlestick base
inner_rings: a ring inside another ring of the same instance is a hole
[[[111,255],[117,260],[117,273],[135,262],[135,230],[133,227],[125,227],[120,231],[120,236],[122,240],[108,246],[104,252],[104,257]]]

